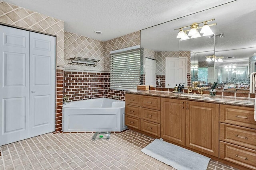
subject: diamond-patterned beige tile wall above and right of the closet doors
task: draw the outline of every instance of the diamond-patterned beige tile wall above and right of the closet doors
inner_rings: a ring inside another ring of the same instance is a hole
[[[0,1],[0,23],[56,35],[56,64],[63,66],[63,21]]]

